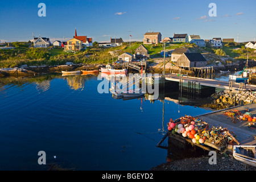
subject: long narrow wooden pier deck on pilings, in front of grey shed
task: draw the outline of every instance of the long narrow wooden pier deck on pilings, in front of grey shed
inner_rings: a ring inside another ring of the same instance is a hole
[[[230,85],[230,82],[228,81],[220,81],[220,80],[212,80],[207,78],[197,78],[197,77],[188,77],[188,76],[178,76],[176,74],[166,74],[166,80],[169,81],[177,81],[179,82],[182,78],[182,82],[188,83],[188,82],[196,82],[196,84],[204,85],[204,86],[212,86],[216,88],[222,88],[222,89],[232,89],[232,90],[240,90],[241,85],[239,83],[232,82]],[[246,89],[252,89],[256,90],[256,85],[246,85]],[[243,85],[243,88],[241,90],[246,90],[245,86]]]

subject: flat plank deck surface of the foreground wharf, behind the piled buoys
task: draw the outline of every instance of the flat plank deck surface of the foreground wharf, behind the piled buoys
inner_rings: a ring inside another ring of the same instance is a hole
[[[256,116],[256,104],[249,104],[245,106],[237,106],[227,110],[213,111],[212,113],[201,114],[196,117],[209,123],[210,127],[222,126],[222,128],[226,127],[229,131],[233,131],[237,135],[237,140],[241,145],[256,145],[256,140],[254,139],[256,136],[256,128],[248,127],[248,121],[240,122],[237,120],[237,123],[234,123],[232,122],[231,118],[228,118],[223,114],[224,111],[234,109],[241,110],[243,113],[245,113],[246,108],[249,109],[251,115]]]

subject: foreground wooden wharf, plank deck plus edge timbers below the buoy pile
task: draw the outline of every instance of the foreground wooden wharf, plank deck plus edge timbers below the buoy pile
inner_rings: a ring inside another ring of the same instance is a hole
[[[240,145],[251,145],[256,146],[256,127],[249,127],[248,121],[239,121],[237,120],[236,123],[232,121],[232,118],[227,117],[224,115],[225,111],[231,111],[231,110],[240,110],[243,113],[245,112],[245,109],[248,109],[252,116],[256,115],[256,104],[249,104],[245,106],[236,106],[236,107],[230,107],[228,109],[222,109],[222,110],[216,110],[212,111],[210,113],[205,113],[201,115],[193,116],[195,118],[201,119],[204,122],[207,122],[209,124],[209,129],[214,127],[222,127],[226,128],[229,131],[232,131],[236,135],[236,139],[238,140]],[[254,125],[255,126],[255,125]],[[165,138],[169,137],[169,139],[175,139],[178,140],[181,143],[187,142],[191,143],[195,146],[198,146],[200,148],[203,148],[204,150],[211,151],[211,150],[218,150],[218,151],[224,151],[229,152],[232,154],[233,151],[233,145],[228,146],[216,146],[215,144],[209,143],[207,141],[204,142],[204,144],[197,144],[193,143],[191,139],[187,137],[182,137],[180,134],[171,134],[170,132],[167,132],[166,135],[164,135],[163,139],[160,140],[160,142],[156,145],[156,147],[161,147],[160,144],[163,142]],[[236,145],[238,143],[234,143]]]

